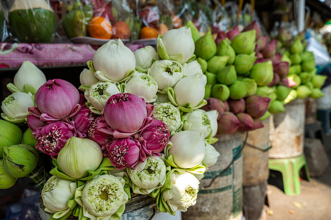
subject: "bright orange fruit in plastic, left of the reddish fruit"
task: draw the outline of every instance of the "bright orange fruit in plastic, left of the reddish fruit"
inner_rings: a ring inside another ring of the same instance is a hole
[[[113,35],[112,24],[104,17],[93,17],[88,25],[91,37],[110,39]]]

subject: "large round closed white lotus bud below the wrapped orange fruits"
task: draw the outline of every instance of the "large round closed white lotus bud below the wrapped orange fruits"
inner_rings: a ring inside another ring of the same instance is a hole
[[[136,67],[136,59],[120,39],[110,40],[95,52],[93,66],[94,75],[101,81],[119,82]]]

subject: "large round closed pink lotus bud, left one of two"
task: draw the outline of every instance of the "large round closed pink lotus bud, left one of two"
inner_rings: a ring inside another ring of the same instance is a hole
[[[71,114],[78,105],[79,92],[70,82],[62,79],[50,79],[40,86],[34,101],[42,113],[61,119],[73,116]]]

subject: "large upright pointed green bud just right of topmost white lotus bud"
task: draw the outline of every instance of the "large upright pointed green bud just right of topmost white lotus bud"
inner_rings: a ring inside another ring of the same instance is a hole
[[[202,59],[209,60],[216,54],[216,44],[210,31],[195,42],[194,54]]]

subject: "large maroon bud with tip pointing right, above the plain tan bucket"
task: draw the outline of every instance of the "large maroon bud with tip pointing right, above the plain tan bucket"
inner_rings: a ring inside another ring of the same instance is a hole
[[[246,112],[252,117],[259,118],[268,110],[270,99],[258,95],[250,96],[246,99]]]

